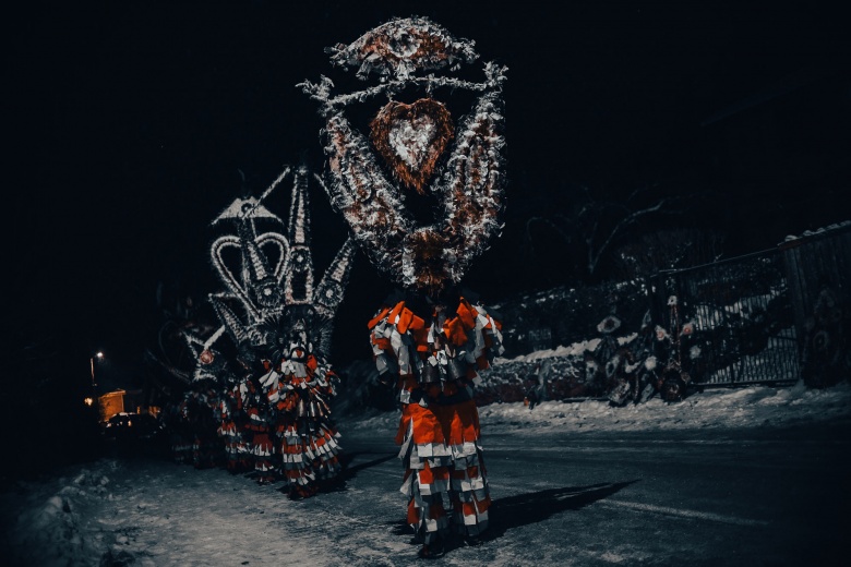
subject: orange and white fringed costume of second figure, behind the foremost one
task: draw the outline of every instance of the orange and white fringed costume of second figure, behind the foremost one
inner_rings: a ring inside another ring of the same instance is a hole
[[[289,353],[266,375],[271,384],[267,398],[280,447],[279,476],[290,496],[304,497],[315,494],[319,482],[336,476],[341,469],[340,435],[331,421],[328,406],[339,378],[303,347],[291,345]]]

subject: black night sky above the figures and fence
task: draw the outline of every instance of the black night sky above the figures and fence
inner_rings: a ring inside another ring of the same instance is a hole
[[[522,243],[580,188],[699,194],[676,224],[723,231],[727,255],[851,218],[848,32],[815,2],[292,4],[53,2],[4,19],[5,347],[48,329],[68,372],[97,349],[139,361],[159,282],[219,289],[207,225],[239,171],[255,195],[285,164],[321,171],[322,120],[296,84],[344,76],[323,49],[392,16],[429,16],[508,67],[506,226],[467,281],[486,301],[580,280],[564,253]],[[346,227],[313,190],[321,275]],[[341,361],[368,354],[365,321],[391,289],[358,260]]]

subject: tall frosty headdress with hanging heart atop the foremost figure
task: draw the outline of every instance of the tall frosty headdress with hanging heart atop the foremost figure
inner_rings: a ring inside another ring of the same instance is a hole
[[[500,234],[504,202],[502,84],[504,67],[483,64],[484,80],[439,75],[478,59],[474,43],[455,39],[424,17],[396,19],[349,46],[331,49],[332,62],[357,68],[380,84],[332,96],[327,77],[300,86],[321,105],[328,170],[325,189],[371,262],[396,282],[436,297],[457,285],[470,261]],[[428,74],[418,74],[425,73]],[[481,93],[455,121],[435,92]],[[420,93],[404,102],[397,97]],[[364,135],[346,117],[349,105],[389,99]],[[435,221],[418,226],[403,189],[440,201]]]

